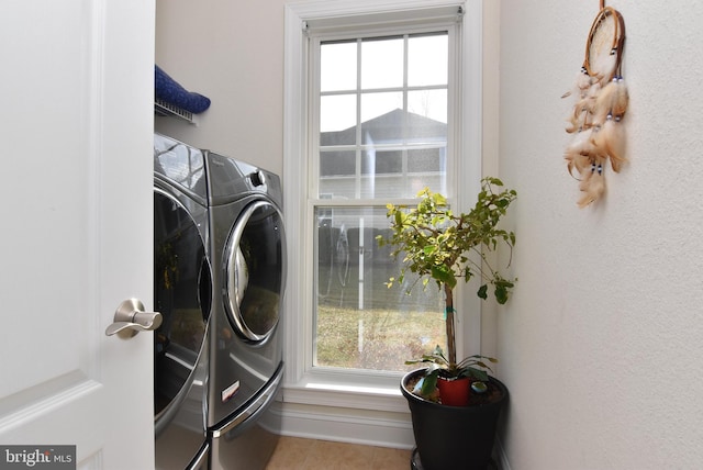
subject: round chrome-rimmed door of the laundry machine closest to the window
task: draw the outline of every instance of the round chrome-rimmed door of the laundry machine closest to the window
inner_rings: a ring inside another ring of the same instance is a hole
[[[263,343],[279,320],[284,288],[283,219],[270,202],[247,205],[225,248],[225,307],[234,331]]]

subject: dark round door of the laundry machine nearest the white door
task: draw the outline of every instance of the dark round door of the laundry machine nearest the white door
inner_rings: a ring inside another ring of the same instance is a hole
[[[164,315],[154,333],[157,418],[188,393],[205,338],[211,290],[210,265],[196,221],[176,198],[154,189],[154,303]]]

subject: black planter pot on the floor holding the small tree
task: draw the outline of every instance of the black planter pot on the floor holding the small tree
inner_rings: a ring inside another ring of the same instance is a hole
[[[415,445],[423,470],[486,470],[491,465],[495,440],[495,427],[503,404],[507,401],[507,388],[490,378],[502,392],[495,403],[446,406],[433,403],[405,390],[404,384],[414,376],[423,376],[425,369],[405,374],[401,392],[408,400],[413,421]]]

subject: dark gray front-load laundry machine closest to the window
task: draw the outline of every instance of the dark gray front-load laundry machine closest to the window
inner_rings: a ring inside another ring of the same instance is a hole
[[[286,234],[278,176],[207,153],[213,292],[208,392],[211,468],[263,469],[280,418]]]

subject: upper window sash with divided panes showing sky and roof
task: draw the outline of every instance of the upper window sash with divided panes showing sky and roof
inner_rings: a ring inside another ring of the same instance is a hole
[[[446,30],[313,43],[317,195],[446,192],[448,45]]]

